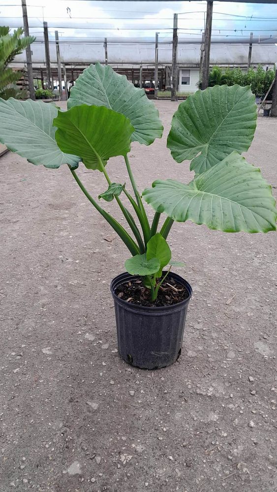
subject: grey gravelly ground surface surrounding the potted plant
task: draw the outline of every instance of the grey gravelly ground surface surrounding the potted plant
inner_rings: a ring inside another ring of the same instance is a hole
[[[192,177],[166,149],[177,106],[158,101],[162,140],[132,147],[141,190]],[[272,184],[276,145],[277,119],[259,118],[247,157]],[[117,353],[109,291],[125,246],[66,166],[12,153],[0,166],[0,492],[277,491],[275,234],[175,224],[194,289],[182,355],[134,369]],[[122,158],[107,169],[127,182]],[[107,187],[78,174],[94,197]]]

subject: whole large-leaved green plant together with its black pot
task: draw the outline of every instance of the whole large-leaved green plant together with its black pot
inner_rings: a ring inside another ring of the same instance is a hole
[[[145,91],[126,77],[109,66],[91,65],[72,88],[68,111],[42,101],[0,101],[0,141],[35,165],[67,164],[129,250],[126,273],[111,282],[119,352],[129,364],[160,368],[181,353],[192,289],[171,272],[183,265],[172,260],[166,241],[174,221],[191,220],[230,233],[275,230],[271,186],[240,155],[250,146],[255,126],[255,97],[249,87],[215,86],[190,95],[173,116],[167,147],[177,162],[190,160],[195,175],[189,184],[157,180],[141,195],[128,159],[131,142],[150,145],[163,127]],[[129,184],[109,178],[109,159],[119,155]],[[98,197],[78,177],[80,162],[107,181]],[[143,200],[155,211],[152,222]],[[120,207],[130,233],[104,210],[105,201]]]

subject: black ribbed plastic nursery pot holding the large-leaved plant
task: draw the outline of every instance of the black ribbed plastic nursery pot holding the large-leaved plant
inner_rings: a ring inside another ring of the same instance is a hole
[[[166,307],[143,307],[127,303],[116,289],[130,279],[124,273],[111,282],[115,303],[119,354],[125,362],[140,369],[160,369],[176,362],[182,350],[187,306],[192,295],[189,283],[177,274],[171,278],[187,290],[187,298]]]

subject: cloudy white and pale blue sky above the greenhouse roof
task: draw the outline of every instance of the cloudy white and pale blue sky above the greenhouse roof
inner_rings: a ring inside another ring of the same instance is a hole
[[[14,6],[18,4],[18,6]],[[43,19],[50,37],[55,28],[60,37],[172,38],[173,14],[180,14],[179,37],[201,37],[206,11],[205,1],[86,1],[27,0],[30,32],[42,34]],[[228,14],[228,15],[226,15]],[[263,18],[263,19],[262,19]],[[2,25],[23,25],[20,0],[0,0]],[[214,1],[213,37],[225,39],[254,35],[277,35],[277,4],[230,3]]]

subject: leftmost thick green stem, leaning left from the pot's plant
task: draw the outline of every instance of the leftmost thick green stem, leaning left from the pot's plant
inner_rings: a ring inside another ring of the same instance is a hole
[[[68,166],[68,167],[70,169],[70,172],[71,172],[73,178],[75,179],[77,184],[79,184],[81,190],[86,195],[88,200],[92,203],[93,207],[95,207],[95,209],[99,212],[99,214],[101,214],[102,217],[104,217],[107,220],[107,222],[112,226],[114,231],[119,235],[119,237],[122,239],[123,243],[127,246],[130,253],[133,256],[135,256],[136,254],[139,254],[140,251],[139,251],[138,246],[136,245],[134,240],[131,238],[131,236],[127,233],[127,231],[125,231],[125,229],[122,227],[122,225],[120,225],[120,223],[116,219],[114,219],[110,214],[108,214],[105,210],[103,210],[98,205],[98,203],[94,200],[94,198],[92,198],[90,193],[87,191],[87,189],[85,188],[85,186],[83,185],[81,180],[78,178],[75,171],[73,171],[73,169],[71,169],[70,166]]]

